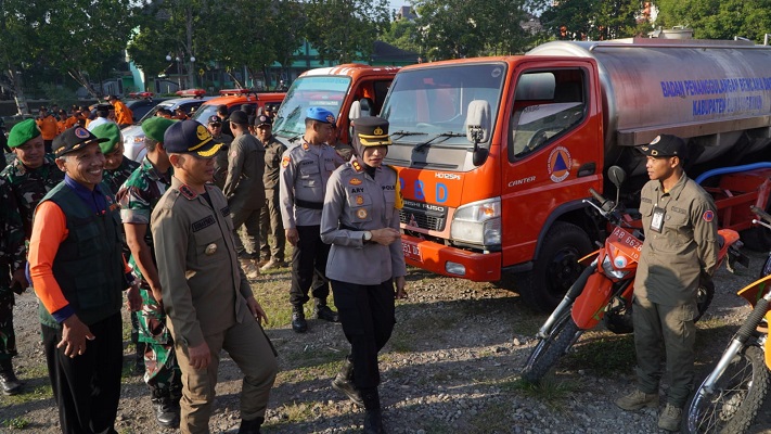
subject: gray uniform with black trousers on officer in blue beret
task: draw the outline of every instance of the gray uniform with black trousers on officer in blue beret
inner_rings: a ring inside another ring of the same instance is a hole
[[[305,140],[284,152],[281,158],[281,217],[284,229],[297,229],[299,233],[292,253],[290,303],[293,306],[301,306],[309,299],[308,290],[314,275],[324,283],[314,285],[313,297],[325,303],[330,294],[323,279],[330,246],[321,241],[319,228],[326,182],[343,163],[330,145],[309,144]]]

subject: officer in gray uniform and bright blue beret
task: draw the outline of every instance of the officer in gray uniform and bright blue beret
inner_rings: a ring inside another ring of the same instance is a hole
[[[299,144],[284,152],[281,158],[280,196],[281,218],[286,240],[295,247],[292,253],[292,330],[305,333],[303,305],[308,302],[308,290],[313,272],[325,276],[330,246],[321,241],[319,226],[324,204],[326,181],[343,164],[343,159],[327,145],[326,139],[335,116],[326,108],[306,111],[305,136]],[[337,314],[326,306],[329,284],[313,288],[314,316],[337,321]]]

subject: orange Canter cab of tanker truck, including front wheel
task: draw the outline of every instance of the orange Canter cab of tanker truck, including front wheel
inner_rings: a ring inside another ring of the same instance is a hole
[[[524,273],[526,302],[553,307],[592,248],[581,200],[602,189],[601,113],[591,59],[404,67],[382,116],[407,263],[474,281]]]

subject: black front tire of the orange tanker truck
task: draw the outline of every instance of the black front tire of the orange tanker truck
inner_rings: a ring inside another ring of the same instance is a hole
[[[592,250],[589,235],[576,225],[556,221],[552,225],[532,270],[518,285],[523,301],[530,308],[550,312],[583,270],[578,259]]]

